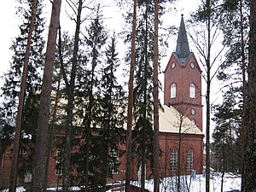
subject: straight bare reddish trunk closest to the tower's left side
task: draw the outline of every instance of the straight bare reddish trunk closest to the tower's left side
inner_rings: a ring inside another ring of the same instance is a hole
[[[159,99],[158,99],[158,0],[154,0],[154,192],[160,191]]]

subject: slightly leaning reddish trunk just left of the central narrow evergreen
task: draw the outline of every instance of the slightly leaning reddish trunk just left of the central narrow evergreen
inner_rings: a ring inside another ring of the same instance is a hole
[[[129,79],[129,96],[127,109],[127,132],[126,132],[126,167],[125,167],[125,191],[131,192],[131,127],[132,127],[132,109],[133,109],[133,79],[135,67],[135,38],[136,38],[136,16],[137,0],[133,0],[133,17],[131,31],[131,67]]]

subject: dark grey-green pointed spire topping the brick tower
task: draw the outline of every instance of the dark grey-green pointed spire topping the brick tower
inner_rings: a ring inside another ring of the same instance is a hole
[[[189,41],[187,38],[183,15],[179,26],[175,55],[177,56],[180,65],[185,65],[190,55]]]

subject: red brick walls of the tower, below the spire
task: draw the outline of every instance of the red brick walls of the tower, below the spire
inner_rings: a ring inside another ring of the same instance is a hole
[[[191,67],[194,65],[194,67]],[[180,65],[175,54],[172,54],[165,70],[164,104],[170,103],[178,112],[184,113],[189,119],[195,119],[202,131],[201,105],[201,69],[193,53],[190,54],[185,65]],[[176,97],[171,98],[171,85],[176,84]],[[189,97],[189,85],[195,84],[195,98]],[[191,109],[195,114],[191,113]]]

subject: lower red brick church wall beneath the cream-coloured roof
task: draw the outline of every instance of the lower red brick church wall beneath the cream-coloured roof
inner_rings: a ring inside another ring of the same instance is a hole
[[[160,132],[160,177],[170,177],[176,175],[176,172],[170,172],[170,153],[172,148],[178,148],[178,134],[174,133],[166,133]],[[201,173],[202,171],[202,135],[184,135],[182,136],[182,159],[181,162],[182,167],[184,167],[186,159],[184,154],[188,150],[188,148],[192,148],[194,152],[194,168],[196,173]],[[120,145],[120,149],[124,150],[125,145]],[[0,170],[0,178],[1,178],[1,188],[8,188],[9,185],[9,170],[11,165],[10,159],[10,152],[11,148],[3,154],[1,170]],[[62,177],[58,177],[55,173],[55,166],[56,166],[56,148],[52,148],[51,155],[49,158],[49,186],[57,186],[61,185]],[[132,170],[131,170],[131,179],[138,180],[137,175],[137,162],[138,159],[136,156],[132,157]],[[125,180],[125,154],[119,158],[119,173],[113,174],[113,177],[108,178],[109,183],[113,183],[116,181],[123,182]],[[150,165],[147,163],[147,177],[146,178],[153,178],[153,172],[150,170]],[[73,172],[73,174],[75,174]],[[190,174],[190,172],[186,172],[183,169],[182,174]],[[58,180],[59,178],[59,180]],[[19,180],[19,183],[24,183],[24,180]],[[18,183],[18,186],[19,186]]]

